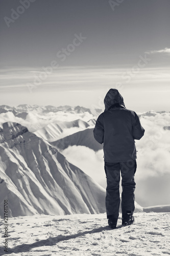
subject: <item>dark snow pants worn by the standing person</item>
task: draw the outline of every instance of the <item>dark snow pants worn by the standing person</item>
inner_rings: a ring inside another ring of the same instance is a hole
[[[106,188],[106,213],[107,218],[118,219],[120,194],[120,173],[122,176],[122,214],[131,213],[135,209],[134,175],[136,172],[136,160],[127,162],[108,163],[105,162],[105,173],[107,178]]]

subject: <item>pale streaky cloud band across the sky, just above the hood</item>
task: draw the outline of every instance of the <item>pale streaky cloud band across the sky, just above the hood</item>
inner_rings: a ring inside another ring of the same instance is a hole
[[[170,51],[170,49],[167,49]],[[161,50],[163,51],[163,50]],[[153,51],[154,52],[154,51]],[[24,90],[29,94],[27,83],[34,85],[33,92],[42,90],[61,90],[61,91],[89,91],[91,88],[104,89],[113,87],[121,82],[122,84],[137,84],[169,82],[169,68],[142,68],[136,73],[133,67],[116,69],[113,67],[75,67],[74,69],[57,69],[51,74],[46,74],[42,68],[18,68],[0,70],[1,85],[0,89]],[[149,86],[149,84],[147,84]],[[53,94],[53,91],[52,91]]]

